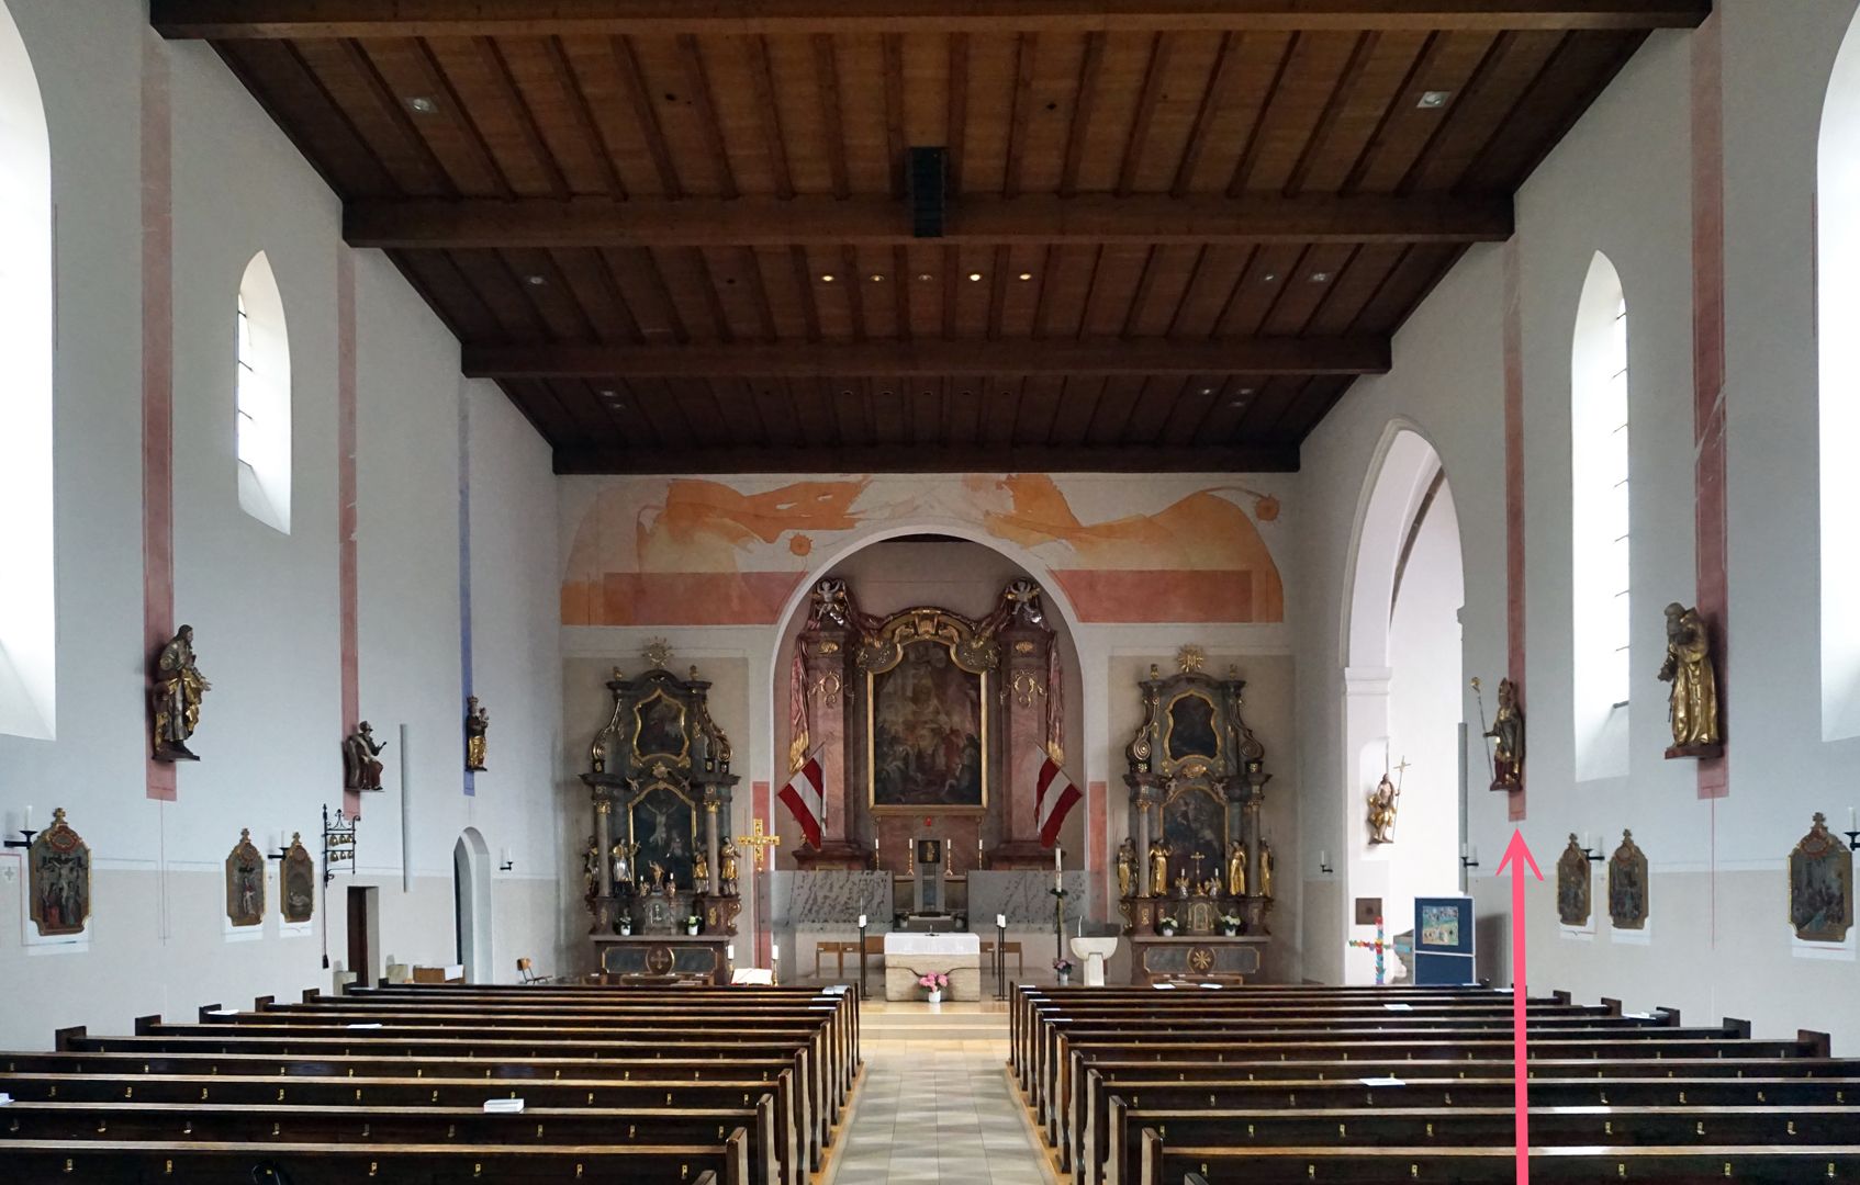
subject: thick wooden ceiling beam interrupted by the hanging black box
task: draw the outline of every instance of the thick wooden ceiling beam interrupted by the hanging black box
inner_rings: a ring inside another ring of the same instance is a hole
[[[407,199],[342,212],[353,247],[908,247],[910,208],[833,199]],[[1508,197],[1246,197],[1109,193],[962,197],[939,241],[1017,243],[1499,243]]]

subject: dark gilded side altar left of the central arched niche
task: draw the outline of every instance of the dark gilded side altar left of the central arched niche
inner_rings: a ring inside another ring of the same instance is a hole
[[[738,854],[727,836],[729,737],[711,719],[711,684],[666,671],[647,648],[638,678],[614,671],[608,723],[580,775],[593,810],[584,856],[597,964],[614,975],[705,973],[729,981]],[[722,815],[722,823],[718,821]]]

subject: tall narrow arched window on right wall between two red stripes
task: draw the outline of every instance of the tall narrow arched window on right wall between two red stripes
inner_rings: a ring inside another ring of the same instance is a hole
[[[1628,299],[1600,251],[1570,351],[1575,776],[1628,773]]]

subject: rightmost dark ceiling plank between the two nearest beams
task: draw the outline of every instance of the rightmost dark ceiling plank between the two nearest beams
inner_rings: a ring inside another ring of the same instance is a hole
[[[1644,37],[1570,33],[1455,189],[1501,193],[1521,186],[1641,45]]]

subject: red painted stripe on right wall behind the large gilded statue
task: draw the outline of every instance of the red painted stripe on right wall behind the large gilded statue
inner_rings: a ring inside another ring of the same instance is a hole
[[[1698,615],[1711,626],[1719,719],[1730,680],[1730,581],[1724,570],[1724,22],[1693,33],[1693,514]],[[1698,763],[1698,797],[1732,791],[1730,756]]]

